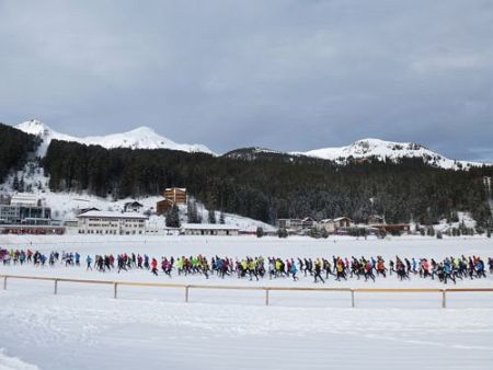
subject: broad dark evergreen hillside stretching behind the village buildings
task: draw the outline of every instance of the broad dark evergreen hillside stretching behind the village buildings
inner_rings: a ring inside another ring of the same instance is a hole
[[[345,166],[278,153],[255,159],[215,158],[171,150],[129,150],[51,141],[44,159],[53,190],[89,190],[115,198],[187,187],[207,207],[266,222],[277,218],[370,213],[388,222],[429,224],[471,211],[480,224],[490,217],[483,175],[492,167],[447,171],[417,159],[365,161]],[[370,200],[372,199],[372,201]]]

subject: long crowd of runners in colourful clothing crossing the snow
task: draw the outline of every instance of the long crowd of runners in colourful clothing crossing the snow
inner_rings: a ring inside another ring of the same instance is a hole
[[[147,254],[123,253],[118,255],[87,255],[83,261],[78,252],[51,252],[47,255],[32,250],[0,248],[2,265],[54,266],[83,266],[87,270],[101,273],[116,270],[118,274],[131,269],[148,270],[154,276],[173,275],[188,276],[203,275],[208,279],[211,275],[219,278],[236,277],[249,280],[290,278],[299,280],[300,276],[312,278],[313,282],[324,284],[325,280],[364,279],[376,281],[377,278],[397,276],[399,280],[409,280],[412,277],[439,280],[444,284],[456,284],[458,279],[485,278],[486,270],[493,275],[493,258],[488,258],[488,265],[479,256],[450,256],[440,261],[434,258],[403,258],[395,256],[386,261],[381,256],[351,258],[288,258],[278,257],[245,257],[230,258],[214,256],[207,258],[203,255],[161,257],[160,259]]]

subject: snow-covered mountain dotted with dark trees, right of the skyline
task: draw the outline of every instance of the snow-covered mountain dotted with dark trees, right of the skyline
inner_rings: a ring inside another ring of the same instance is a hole
[[[344,163],[351,158],[376,158],[382,161],[388,159],[394,161],[401,158],[423,158],[426,163],[442,169],[467,169],[483,164],[455,161],[413,142],[392,142],[379,139],[363,139],[347,147],[323,148],[307,152],[291,152],[290,154],[314,157],[339,163]]]

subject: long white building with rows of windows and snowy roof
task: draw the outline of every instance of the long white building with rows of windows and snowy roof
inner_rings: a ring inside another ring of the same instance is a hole
[[[89,211],[77,216],[80,234],[135,235],[146,233],[147,217],[136,212]]]

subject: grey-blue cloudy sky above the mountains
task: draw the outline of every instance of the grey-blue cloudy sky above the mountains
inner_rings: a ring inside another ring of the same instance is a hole
[[[0,122],[493,162],[493,1],[0,0]]]

